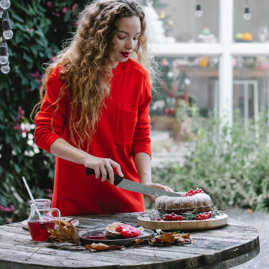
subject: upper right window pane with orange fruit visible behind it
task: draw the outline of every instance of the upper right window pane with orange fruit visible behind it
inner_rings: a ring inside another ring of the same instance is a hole
[[[268,42],[269,41],[269,1],[249,0],[251,19],[243,18],[246,0],[235,0],[234,5],[234,38],[240,41]],[[250,33],[245,34],[244,33]]]

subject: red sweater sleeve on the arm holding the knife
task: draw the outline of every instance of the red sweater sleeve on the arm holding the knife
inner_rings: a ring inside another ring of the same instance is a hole
[[[59,101],[57,108],[55,104],[64,80],[60,80],[53,74],[49,75],[47,81],[47,90],[40,111],[35,116],[36,130],[34,132],[35,143],[38,147],[49,151],[51,144],[58,138],[63,137],[63,128],[66,124],[67,115],[67,95]],[[53,129],[51,128],[51,119],[53,116]]]

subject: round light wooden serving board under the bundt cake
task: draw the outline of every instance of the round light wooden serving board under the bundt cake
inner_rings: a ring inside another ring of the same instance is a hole
[[[228,222],[228,215],[223,214],[216,216],[216,218],[210,218],[207,220],[183,220],[183,221],[157,221],[150,220],[149,217],[142,217],[141,215],[137,217],[137,223],[144,228],[156,230],[199,230],[199,229],[209,229],[216,228],[226,225]]]

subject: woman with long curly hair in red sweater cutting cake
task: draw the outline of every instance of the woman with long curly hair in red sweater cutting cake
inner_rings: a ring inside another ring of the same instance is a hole
[[[148,75],[154,72],[145,30],[136,1],[97,0],[83,10],[69,47],[46,69],[35,142],[56,155],[52,206],[63,216],[144,211],[142,194],[112,185],[114,172],[172,191],[151,183]]]

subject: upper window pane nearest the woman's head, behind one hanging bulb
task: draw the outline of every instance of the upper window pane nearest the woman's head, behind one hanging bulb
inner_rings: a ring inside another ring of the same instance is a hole
[[[146,2],[145,2],[146,1]],[[202,0],[203,15],[197,17],[196,0],[144,0],[152,43],[217,42],[219,1]],[[153,3],[152,6],[150,6]]]

